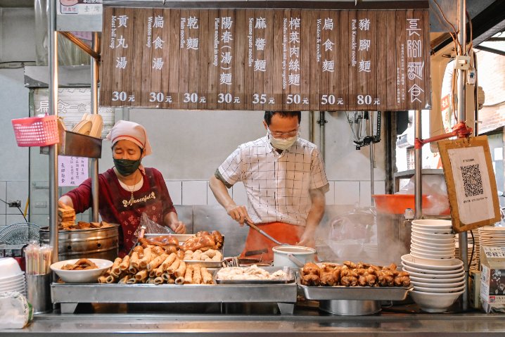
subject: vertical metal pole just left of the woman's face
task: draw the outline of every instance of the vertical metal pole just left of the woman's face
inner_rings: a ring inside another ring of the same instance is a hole
[[[100,37],[98,32],[93,33],[91,48],[100,53]],[[98,114],[98,60],[91,57],[91,113]],[[98,159],[91,158],[91,194],[93,195],[92,217],[93,222],[98,222]]]

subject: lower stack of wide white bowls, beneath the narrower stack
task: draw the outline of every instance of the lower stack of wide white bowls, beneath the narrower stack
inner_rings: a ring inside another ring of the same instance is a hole
[[[459,259],[421,259],[402,256],[414,290],[412,299],[426,312],[445,312],[464,292],[465,272]]]

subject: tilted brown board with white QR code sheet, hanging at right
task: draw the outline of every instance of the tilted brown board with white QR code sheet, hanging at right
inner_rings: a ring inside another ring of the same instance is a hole
[[[456,233],[500,220],[496,179],[487,136],[439,141],[452,226]]]

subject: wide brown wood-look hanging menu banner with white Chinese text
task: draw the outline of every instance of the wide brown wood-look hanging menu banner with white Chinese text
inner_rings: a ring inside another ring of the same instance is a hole
[[[101,106],[418,110],[429,13],[106,7]]]

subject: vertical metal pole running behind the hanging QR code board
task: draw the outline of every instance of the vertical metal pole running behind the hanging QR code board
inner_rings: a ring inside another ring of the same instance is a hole
[[[466,0],[459,0],[459,33],[458,41],[461,45],[460,55],[466,55]],[[466,71],[458,69],[458,121],[466,120],[465,112],[465,82]],[[459,258],[465,269],[465,292],[463,293],[463,310],[468,310],[468,233],[459,233]]]

